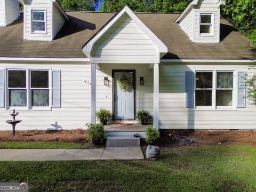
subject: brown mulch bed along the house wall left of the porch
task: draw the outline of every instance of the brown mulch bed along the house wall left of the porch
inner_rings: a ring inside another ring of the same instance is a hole
[[[59,131],[16,131],[15,136],[11,131],[0,131],[0,141],[64,141],[86,142],[87,130],[59,130]]]

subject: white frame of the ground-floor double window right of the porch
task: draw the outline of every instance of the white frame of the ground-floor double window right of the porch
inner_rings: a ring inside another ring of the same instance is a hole
[[[196,88],[196,72],[212,72],[212,89],[197,89]],[[233,89],[217,89],[217,73],[218,72],[233,72]],[[237,70],[194,70],[194,109],[195,110],[236,110],[237,108]],[[212,90],[212,106],[196,106],[196,90]],[[233,90],[232,106],[217,106],[216,92],[217,90]]]

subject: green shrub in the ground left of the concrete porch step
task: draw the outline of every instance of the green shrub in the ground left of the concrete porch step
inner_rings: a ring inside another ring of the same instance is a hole
[[[86,124],[88,126],[88,140],[94,143],[102,143],[104,141],[104,126],[102,124]]]

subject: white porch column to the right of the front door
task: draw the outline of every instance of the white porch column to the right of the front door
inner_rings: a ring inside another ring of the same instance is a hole
[[[154,127],[159,128],[159,63],[154,64]]]

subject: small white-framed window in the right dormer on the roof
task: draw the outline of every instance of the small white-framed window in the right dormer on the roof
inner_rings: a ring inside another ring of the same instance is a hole
[[[213,14],[201,13],[199,25],[200,25],[200,35],[202,36],[213,35]]]

